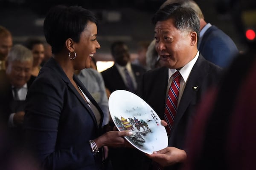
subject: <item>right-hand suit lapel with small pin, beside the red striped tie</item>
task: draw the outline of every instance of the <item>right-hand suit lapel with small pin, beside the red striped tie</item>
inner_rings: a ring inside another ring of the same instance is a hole
[[[196,61],[195,65],[193,66],[190,72],[189,79],[183,91],[183,95],[180,99],[180,104],[178,106],[177,114],[174,121],[174,127],[178,124],[180,119],[183,117],[189,104],[192,102],[192,100],[195,99],[198,91],[201,88],[203,79],[206,76],[205,73],[207,72],[206,68],[201,67],[202,61],[204,61],[204,58],[200,54],[198,57],[198,60]]]

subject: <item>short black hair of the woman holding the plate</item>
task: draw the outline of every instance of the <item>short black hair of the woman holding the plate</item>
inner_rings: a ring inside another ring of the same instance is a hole
[[[98,26],[98,20],[93,12],[81,6],[54,6],[44,20],[44,36],[52,46],[52,53],[62,50],[65,41],[71,38],[79,42],[81,32],[91,21]]]

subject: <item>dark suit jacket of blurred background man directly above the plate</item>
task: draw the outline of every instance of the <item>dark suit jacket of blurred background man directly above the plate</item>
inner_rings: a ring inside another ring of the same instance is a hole
[[[134,64],[131,64],[131,69],[135,75],[137,86],[139,86],[145,69],[141,66],[137,66]],[[113,92],[115,90],[128,90],[128,87],[125,85],[125,82],[123,81],[122,76],[120,75],[115,65],[103,71],[102,77],[104,79],[106,88],[109,89],[110,92]],[[137,90],[135,91],[135,93],[136,92]]]

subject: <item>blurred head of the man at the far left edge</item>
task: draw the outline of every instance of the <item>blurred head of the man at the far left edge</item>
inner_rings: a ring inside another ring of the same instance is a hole
[[[12,34],[3,26],[0,26],[0,69],[5,69],[6,57],[12,48]]]

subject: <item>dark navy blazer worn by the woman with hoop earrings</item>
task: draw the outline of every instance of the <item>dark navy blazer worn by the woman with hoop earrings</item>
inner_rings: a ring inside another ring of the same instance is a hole
[[[47,170],[98,170],[100,166],[89,140],[100,135],[103,113],[76,75],[73,79],[99,110],[99,126],[93,111],[54,58],[41,68],[27,94],[27,146]]]

